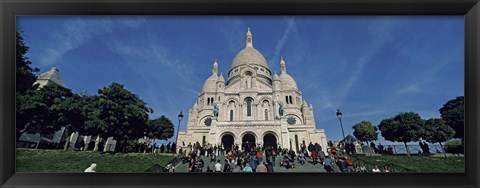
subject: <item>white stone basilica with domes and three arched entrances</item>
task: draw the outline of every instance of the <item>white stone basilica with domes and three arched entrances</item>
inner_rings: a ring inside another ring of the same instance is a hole
[[[261,145],[298,152],[311,142],[327,148],[325,131],[316,128],[313,107],[287,73],[287,63],[282,58],[280,75],[272,74],[265,57],[253,46],[250,29],[227,79],[219,75],[218,66],[215,60],[177,143],[223,144],[225,149]]]

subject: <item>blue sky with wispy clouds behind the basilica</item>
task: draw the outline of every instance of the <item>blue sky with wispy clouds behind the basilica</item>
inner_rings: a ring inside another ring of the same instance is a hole
[[[438,109],[464,95],[463,16],[21,16],[27,56],[40,72],[58,67],[76,93],[123,84],[178,125],[188,114],[214,59],[227,75],[245,46],[288,73],[313,105],[328,140],[363,120],[378,125],[399,112],[438,118]],[[186,128],[186,117],[180,130]],[[381,136],[380,136],[381,137]],[[175,137],[170,139],[173,141]],[[383,140],[383,138],[380,138]],[[383,141],[382,141],[383,142]],[[385,142],[389,143],[389,142]]]

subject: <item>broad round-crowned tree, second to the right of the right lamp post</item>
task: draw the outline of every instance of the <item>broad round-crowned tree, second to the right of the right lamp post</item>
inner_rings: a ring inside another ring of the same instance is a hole
[[[407,142],[418,141],[422,136],[424,121],[417,113],[405,112],[396,116],[384,119],[378,125],[385,140],[392,142],[403,142],[410,156]]]

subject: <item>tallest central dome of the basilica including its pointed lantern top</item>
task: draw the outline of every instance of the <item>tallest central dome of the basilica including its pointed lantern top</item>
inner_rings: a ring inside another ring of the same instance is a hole
[[[232,69],[242,65],[259,65],[266,69],[270,69],[267,64],[267,60],[263,55],[253,47],[253,35],[248,28],[245,36],[245,48],[237,53],[232,62]]]

